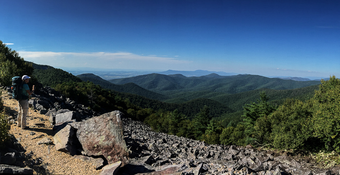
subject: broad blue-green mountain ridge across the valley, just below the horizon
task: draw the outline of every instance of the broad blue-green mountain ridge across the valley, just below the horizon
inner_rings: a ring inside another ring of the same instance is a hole
[[[209,91],[225,94],[237,94],[256,89],[296,89],[320,84],[320,81],[294,81],[271,79],[258,75],[219,76],[209,74],[201,77],[185,77],[178,75],[148,74],[131,78],[109,80],[115,84],[129,82],[163,95],[187,91]]]

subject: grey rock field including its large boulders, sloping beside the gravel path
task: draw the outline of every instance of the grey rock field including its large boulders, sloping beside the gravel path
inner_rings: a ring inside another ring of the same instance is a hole
[[[102,175],[339,175],[337,168],[317,169],[270,150],[153,132],[119,111],[99,116],[49,87],[30,103],[50,117],[56,149],[92,162]]]

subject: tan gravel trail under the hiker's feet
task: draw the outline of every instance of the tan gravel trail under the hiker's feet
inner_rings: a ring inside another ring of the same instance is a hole
[[[17,160],[17,166],[32,168],[35,175],[99,175],[102,172],[102,170],[96,170],[92,163],[74,159],[64,152],[56,151],[53,143],[38,145],[37,142],[45,137],[53,142],[52,126],[48,122],[48,117],[40,114],[39,111],[29,109],[27,123],[30,128],[23,130],[17,127],[17,101],[14,101],[6,91],[3,91],[1,97],[7,113],[15,119],[10,133],[26,150],[25,158]]]

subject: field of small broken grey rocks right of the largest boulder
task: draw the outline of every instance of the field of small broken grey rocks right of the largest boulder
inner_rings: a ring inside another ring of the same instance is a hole
[[[339,175],[338,168],[317,169],[270,150],[209,145],[153,132],[143,123],[128,118],[123,121],[131,162],[121,168],[121,173],[133,170],[134,173],[154,175],[154,171],[178,165],[184,169],[182,173],[188,168],[196,168],[196,175]]]

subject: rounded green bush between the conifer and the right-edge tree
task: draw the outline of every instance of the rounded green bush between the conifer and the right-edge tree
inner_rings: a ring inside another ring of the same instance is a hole
[[[287,99],[268,120],[272,124],[272,145],[279,149],[302,149],[305,142],[312,137],[312,107],[311,101]],[[263,122],[262,122],[263,123]],[[263,133],[270,131],[260,129]],[[268,137],[268,135],[265,135]],[[269,140],[269,139],[267,139]]]

